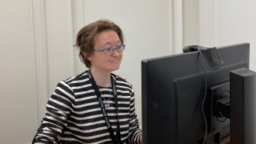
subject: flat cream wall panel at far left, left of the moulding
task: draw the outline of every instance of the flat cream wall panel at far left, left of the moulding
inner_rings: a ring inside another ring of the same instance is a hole
[[[0,1],[0,141],[28,143],[37,126],[31,1]]]

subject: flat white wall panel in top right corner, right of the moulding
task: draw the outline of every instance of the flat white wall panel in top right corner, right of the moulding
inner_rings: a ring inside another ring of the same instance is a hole
[[[256,72],[256,1],[221,1],[222,45],[250,43],[250,69]]]

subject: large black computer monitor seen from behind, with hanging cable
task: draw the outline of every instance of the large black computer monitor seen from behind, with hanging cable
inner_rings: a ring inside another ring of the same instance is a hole
[[[209,144],[229,136],[230,120],[214,114],[216,101],[230,94],[229,72],[248,69],[249,48],[241,43],[142,60],[144,144],[203,143],[206,136]]]

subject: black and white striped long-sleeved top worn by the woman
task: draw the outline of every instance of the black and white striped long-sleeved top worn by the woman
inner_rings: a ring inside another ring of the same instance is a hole
[[[113,74],[112,74],[113,75]],[[134,91],[125,79],[115,76],[118,120],[112,88],[100,87],[114,134],[120,124],[122,143],[139,143],[141,130],[134,109]],[[96,92],[87,72],[58,83],[47,102],[46,117],[34,143],[113,143]]]

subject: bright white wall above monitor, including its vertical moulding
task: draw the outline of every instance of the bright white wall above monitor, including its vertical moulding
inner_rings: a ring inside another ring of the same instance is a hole
[[[200,0],[199,11],[200,45],[250,43],[250,69],[256,71],[256,1]]]

